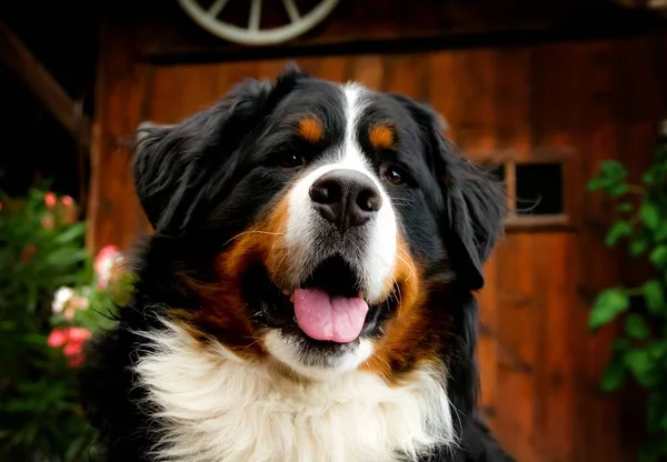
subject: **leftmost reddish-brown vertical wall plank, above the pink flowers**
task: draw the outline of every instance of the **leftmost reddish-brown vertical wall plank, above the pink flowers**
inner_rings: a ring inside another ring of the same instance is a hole
[[[96,86],[87,247],[130,247],[150,231],[135,193],[132,152],[127,142],[146,113],[145,91],[151,69],[135,60],[123,19],[109,14],[102,30]],[[122,18],[122,16],[121,16]]]

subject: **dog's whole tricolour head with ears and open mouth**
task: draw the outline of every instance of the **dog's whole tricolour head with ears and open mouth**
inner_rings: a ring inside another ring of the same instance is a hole
[[[441,361],[504,209],[428,108],[295,69],[148,131],[136,179],[195,337],[317,378]]]

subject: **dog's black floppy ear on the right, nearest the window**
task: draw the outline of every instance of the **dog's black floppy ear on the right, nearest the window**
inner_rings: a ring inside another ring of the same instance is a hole
[[[445,138],[446,125],[431,108],[395,96],[424,133],[441,198],[436,204],[442,241],[457,280],[469,290],[485,284],[482,265],[502,234],[505,188],[482,167],[456,153]]]

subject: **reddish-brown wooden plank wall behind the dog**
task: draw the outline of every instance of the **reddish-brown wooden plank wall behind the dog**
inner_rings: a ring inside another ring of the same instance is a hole
[[[126,40],[126,42],[123,42]],[[172,123],[246,77],[271,78],[282,60],[156,66],[133,59],[131,38],[102,44],[94,124],[90,243],[127,247],[147,230],[123,141],[145,120]],[[472,157],[519,161],[567,152],[560,227],[511,227],[487,264],[480,293],[482,410],[525,462],[635,460],[641,422],[624,396],[599,391],[613,330],[586,329],[595,293],[616,283],[620,255],[603,243],[609,204],[587,194],[604,159],[647,162],[658,98],[645,38],[299,59],[315,76],[356,79],[426,100]]]

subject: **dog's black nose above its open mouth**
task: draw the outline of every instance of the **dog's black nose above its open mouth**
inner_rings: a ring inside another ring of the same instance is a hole
[[[382,207],[374,181],[355,170],[331,170],[312,183],[309,192],[319,214],[341,234],[368,222]]]

